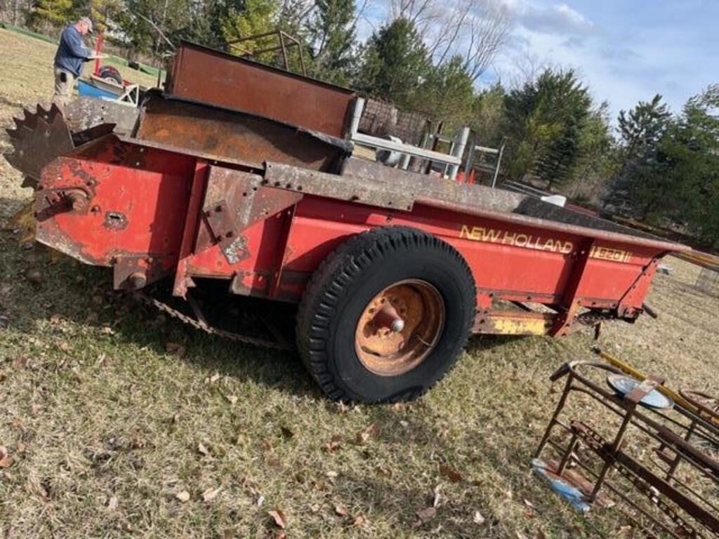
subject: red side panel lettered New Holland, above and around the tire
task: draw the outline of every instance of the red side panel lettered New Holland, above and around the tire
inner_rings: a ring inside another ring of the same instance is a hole
[[[406,213],[306,197],[298,204],[290,231],[285,272],[296,276],[293,284],[298,297],[302,287],[299,276],[310,275],[342,241],[374,226],[411,226],[455,247],[470,265],[480,295],[546,305],[560,303],[566,296],[569,301],[580,300],[587,308],[615,309],[640,275],[644,262],[661,254],[645,249],[628,260],[608,260],[597,259],[589,252],[590,257],[577,264],[585,247],[583,236],[477,218],[467,233],[467,229],[463,232],[464,219],[462,214],[426,206]],[[480,226],[484,237],[477,229]],[[573,270],[581,270],[577,274],[581,278],[569,291]]]

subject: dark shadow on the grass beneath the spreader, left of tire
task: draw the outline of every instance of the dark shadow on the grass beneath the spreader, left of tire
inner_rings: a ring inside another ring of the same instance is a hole
[[[174,354],[177,361],[208,373],[322,398],[294,352],[259,349],[202,333],[112,290],[108,268],[86,266],[65,257],[52,261],[49,249],[40,245],[24,249],[10,231],[0,233],[0,249],[0,311],[16,331],[32,335],[39,331],[38,323],[55,318],[96,329],[110,326],[116,344],[132,343],[158,354],[168,352],[168,344],[181,346],[183,353]],[[262,303],[268,304],[265,308],[276,308],[273,302]],[[255,302],[249,305],[258,308]],[[252,336],[272,338],[266,330],[264,334],[252,331]]]

